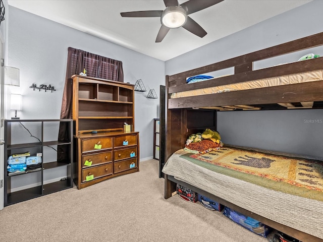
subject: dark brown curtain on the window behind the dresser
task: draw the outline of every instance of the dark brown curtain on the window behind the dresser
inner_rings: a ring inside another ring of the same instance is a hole
[[[61,119],[72,118],[73,83],[71,77],[86,70],[88,77],[124,82],[122,62],[93,54],[81,49],[68,48],[65,86],[63,92]],[[60,125],[59,140],[70,140],[70,132],[65,123]],[[58,152],[58,161],[64,159]]]

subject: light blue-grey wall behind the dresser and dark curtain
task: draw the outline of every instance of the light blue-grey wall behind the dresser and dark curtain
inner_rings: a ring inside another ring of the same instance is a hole
[[[23,95],[20,118],[60,118],[68,47],[118,59],[123,62],[125,82],[135,84],[142,79],[146,87],[147,92],[135,92],[135,129],[140,132],[140,158],[152,158],[153,118],[159,115],[159,85],[165,83],[165,63],[17,8],[10,6],[9,10],[7,65],[20,69],[20,87],[9,92]],[[29,88],[33,83],[50,84],[56,91],[33,91]],[[146,98],[151,88],[158,99]],[[8,110],[6,118],[12,114]]]

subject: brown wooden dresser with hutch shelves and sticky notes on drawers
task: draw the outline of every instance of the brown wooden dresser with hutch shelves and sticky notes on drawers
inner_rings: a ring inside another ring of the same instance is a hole
[[[139,171],[134,85],[78,75],[72,79],[77,188]],[[124,123],[130,131],[124,131]]]

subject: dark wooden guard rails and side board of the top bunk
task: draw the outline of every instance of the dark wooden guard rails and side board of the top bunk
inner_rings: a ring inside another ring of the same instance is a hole
[[[170,98],[171,94],[185,92],[209,87],[217,87],[229,84],[288,76],[323,69],[323,58],[317,57],[307,59],[306,61],[281,64],[278,66],[253,70],[253,64],[264,59],[309,49],[323,45],[323,33],[314,34],[308,37],[293,40],[287,43],[265,48],[245,55],[237,56],[218,63],[196,68],[190,71],[182,72],[172,76],[166,76],[166,85],[168,88],[169,108],[190,108],[190,107],[214,107],[230,105],[255,105],[255,104],[273,104],[292,102],[319,102],[319,105],[308,105],[302,107],[323,107],[323,94],[321,87],[323,80],[315,82],[297,83],[283,86],[274,86],[267,88],[256,88],[241,90],[236,92],[216,93],[192,97]],[[234,68],[234,74],[218,77],[215,79],[196,82],[186,85],[188,77],[219,71],[227,68]],[[261,90],[264,89],[264,90]],[[220,95],[219,95],[220,94]],[[283,95],[284,94],[284,95]],[[283,104],[283,105],[282,105]],[[253,107],[253,106],[252,106]],[[217,109],[217,108],[213,108]],[[218,108],[221,110],[221,108]],[[255,108],[259,109],[259,108]],[[274,108],[275,109],[275,108]],[[277,109],[277,108],[276,108]]]

